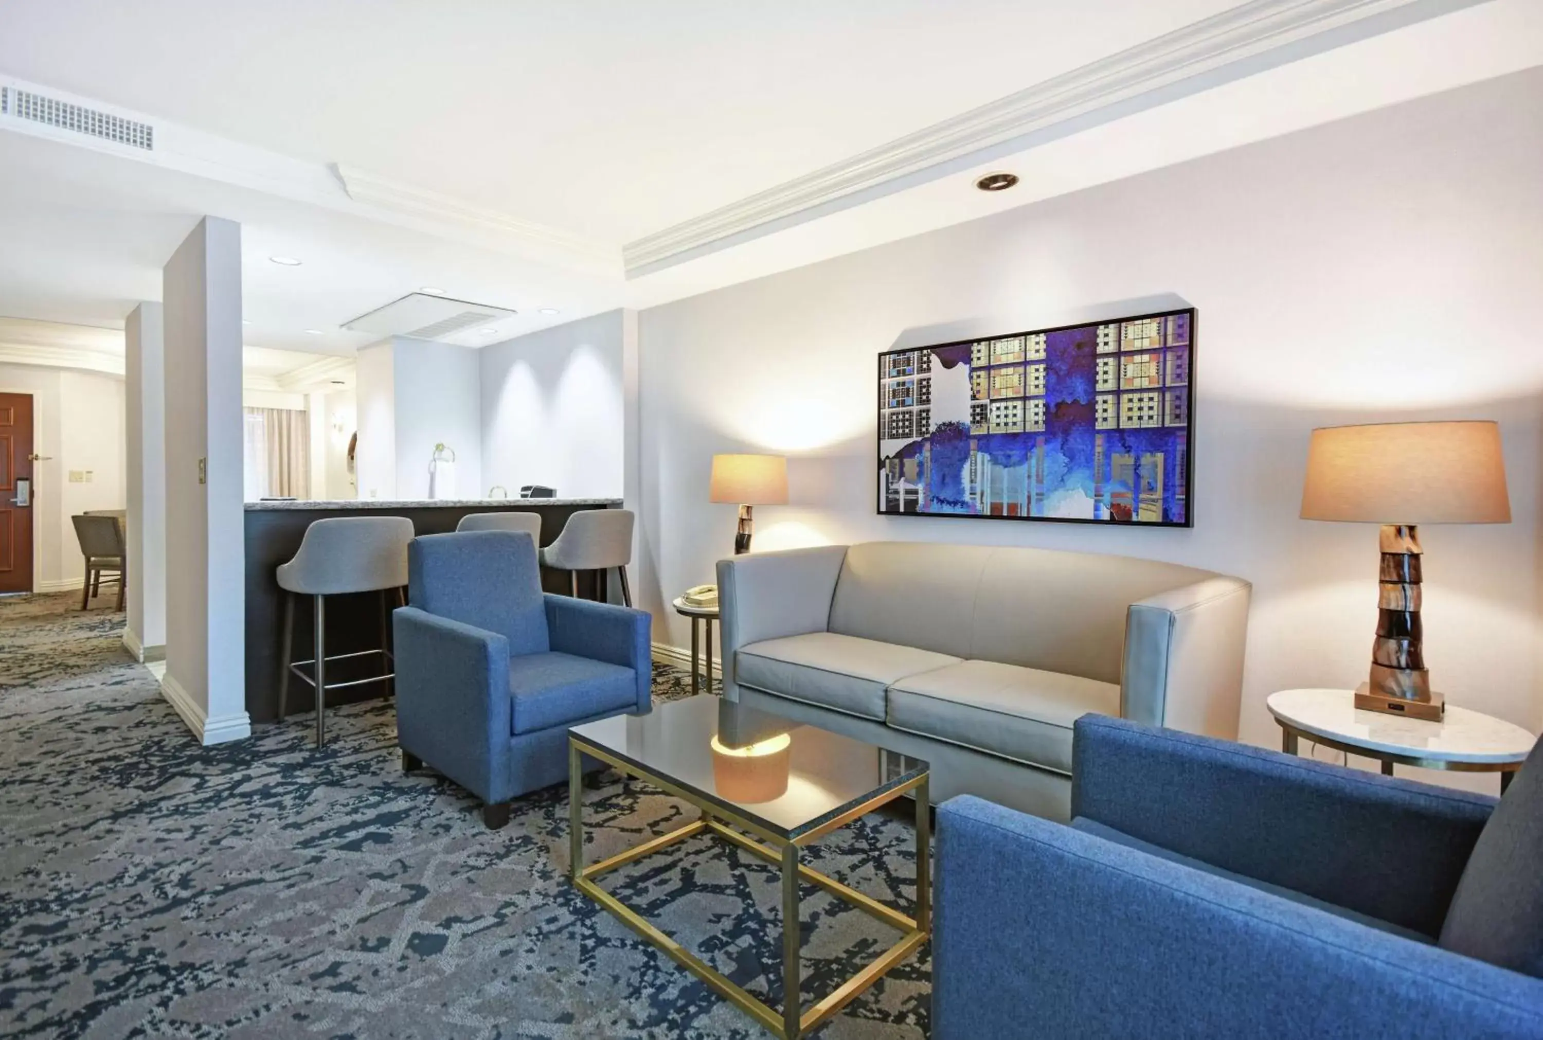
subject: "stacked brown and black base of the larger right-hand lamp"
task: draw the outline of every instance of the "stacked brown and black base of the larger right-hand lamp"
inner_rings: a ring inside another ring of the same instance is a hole
[[[1412,523],[1386,523],[1379,542],[1383,566],[1372,674],[1355,691],[1355,707],[1440,722],[1446,701],[1430,691],[1420,620],[1420,532]]]

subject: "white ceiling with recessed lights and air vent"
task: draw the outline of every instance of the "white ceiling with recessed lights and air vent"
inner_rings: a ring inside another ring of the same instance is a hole
[[[151,120],[157,154],[0,120],[0,315],[120,327],[213,213],[242,224],[248,344],[350,353],[370,336],[343,322],[423,285],[520,312],[501,339],[1543,63],[1537,0],[1236,2],[9,0],[0,80]],[[1291,9],[1378,17],[622,273],[639,238],[1197,20]],[[1023,184],[974,191],[986,168]]]

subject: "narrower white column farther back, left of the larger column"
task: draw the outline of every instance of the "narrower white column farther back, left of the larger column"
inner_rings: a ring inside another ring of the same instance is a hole
[[[123,409],[128,478],[128,623],[139,660],[167,656],[165,364],[160,304],[139,304],[125,326]]]

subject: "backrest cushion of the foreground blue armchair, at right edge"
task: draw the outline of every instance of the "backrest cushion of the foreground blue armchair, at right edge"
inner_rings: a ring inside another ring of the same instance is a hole
[[[1511,781],[1452,893],[1441,946],[1543,978],[1543,741]]]

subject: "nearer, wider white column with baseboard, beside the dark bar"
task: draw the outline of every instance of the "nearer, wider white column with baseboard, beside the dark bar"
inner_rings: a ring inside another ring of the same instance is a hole
[[[241,495],[241,225],[207,216],[167,262],[167,674],[204,744],[252,734]]]

